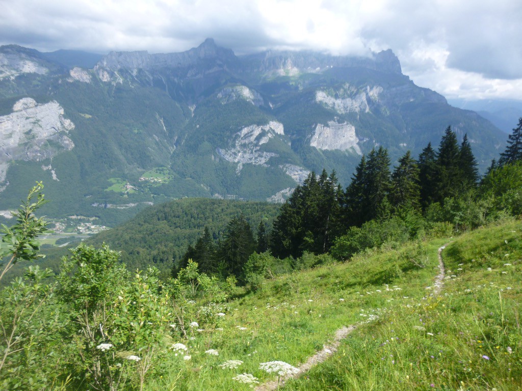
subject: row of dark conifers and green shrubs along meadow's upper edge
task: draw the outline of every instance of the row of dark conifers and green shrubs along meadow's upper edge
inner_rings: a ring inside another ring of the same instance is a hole
[[[517,214],[518,192],[503,201],[499,197],[505,198],[509,191],[495,192],[503,186],[517,188],[517,174],[511,172],[506,176],[511,182],[501,186],[499,173],[520,161],[522,118],[509,135],[499,161],[492,162],[483,178],[467,135],[459,143],[449,126],[437,150],[429,143],[417,159],[408,151],[393,168],[387,150],[379,146],[361,157],[346,189],[338,183],[335,170],[330,174],[324,169],[320,175],[310,173],[281,206],[270,230],[262,222],[255,235],[240,216],[228,223],[223,239],[215,242],[205,227],[203,236],[194,246],[188,246],[172,273],[175,276],[192,259],[201,272],[234,275],[241,282],[253,253],[268,250],[279,259],[298,259],[305,253],[331,252],[342,258],[361,247],[378,245],[398,231],[411,238],[433,229],[435,223],[451,223],[454,229],[472,228],[483,223],[493,210],[505,210],[509,203],[509,213]],[[359,242],[353,245],[354,240]],[[348,253],[339,250],[346,248],[346,241],[352,248]]]

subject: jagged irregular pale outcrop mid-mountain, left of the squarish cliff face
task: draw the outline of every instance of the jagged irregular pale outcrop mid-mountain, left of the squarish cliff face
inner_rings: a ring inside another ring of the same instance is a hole
[[[234,136],[230,149],[218,148],[218,153],[224,160],[239,163],[236,172],[239,174],[245,163],[254,165],[266,164],[276,153],[260,151],[260,147],[276,135],[284,135],[283,124],[270,121],[267,125],[250,125],[241,129]]]

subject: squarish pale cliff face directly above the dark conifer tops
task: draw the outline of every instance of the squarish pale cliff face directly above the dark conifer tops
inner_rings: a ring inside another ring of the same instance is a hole
[[[355,135],[353,125],[346,122],[338,124],[335,121],[328,121],[327,125],[317,124],[310,139],[310,146],[320,150],[345,151],[351,149],[353,152],[362,155],[358,142],[359,139]]]

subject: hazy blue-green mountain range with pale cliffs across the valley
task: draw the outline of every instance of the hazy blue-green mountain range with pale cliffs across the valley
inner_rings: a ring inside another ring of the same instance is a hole
[[[392,161],[467,133],[483,171],[506,135],[415,85],[390,51],[266,51],[207,39],[182,53],[0,47],[0,219],[36,180],[54,218],[121,223],[183,197],[281,202],[311,171],[348,185],[361,155]]]

